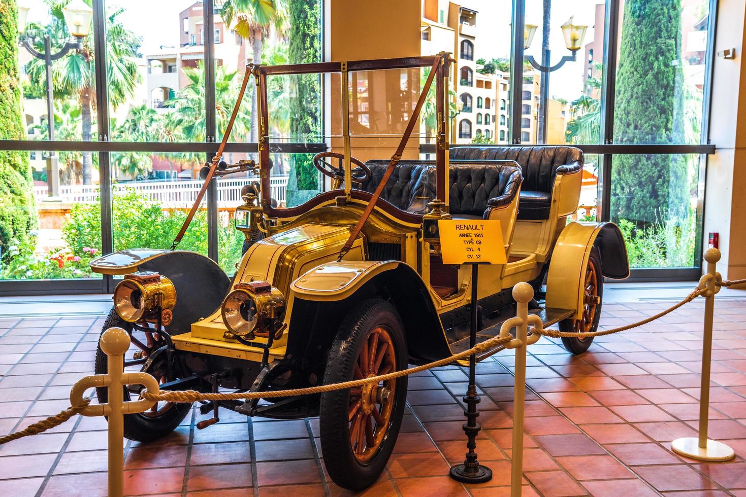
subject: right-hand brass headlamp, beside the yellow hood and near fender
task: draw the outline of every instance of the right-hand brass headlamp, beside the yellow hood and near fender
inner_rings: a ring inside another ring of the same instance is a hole
[[[269,337],[269,333],[275,331],[275,323],[285,314],[285,298],[268,282],[236,283],[223,300],[221,313],[228,328],[223,338]]]

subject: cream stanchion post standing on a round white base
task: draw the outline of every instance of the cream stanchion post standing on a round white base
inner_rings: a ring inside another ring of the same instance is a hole
[[[706,292],[704,303],[704,334],[702,339],[702,385],[700,387],[700,425],[699,437],[677,438],[671,442],[671,449],[687,458],[723,461],[736,456],[729,446],[716,440],[707,439],[707,421],[709,418],[709,369],[712,361],[712,318],[715,314],[715,294],[720,291],[721,276],[715,270],[720,260],[720,250],[709,248],[704,253],[707,262],[707,273],[702,276],[699,288]]]

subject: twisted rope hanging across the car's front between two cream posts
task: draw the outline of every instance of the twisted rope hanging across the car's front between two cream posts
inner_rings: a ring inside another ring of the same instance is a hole
[[[198,402],[200,400],[239,400],[239,399],[268,399],[270,397],[289,397],[298,395],[310,395],[313,393],[325,393],[333,390],[345,390],[347,388],[362,387],[366,384],[385,382],[389,379],[397,379],[402,376],[408,376],[413,373],[419,373],[420,371],[430,370],[433,367],[445,366],[451,364],[453,361],[467,358],[469,355],[478,354],[480,352],[486,352],[492,347],[505,344],[513,340],[512,336],[508,337],[494,337],[483,341],[481,344],[477,344],[471,349],[459,352],[458,354],[451,355],[445,359],[439,361],[433,361],[421,366],[410,367],[408,370],[394,371],[393,373],[386,373],[380,376],[371,376],[370,378],[363,378],[359,380],[351,380],[349,382],[341,383],[330,383],[322,384],[318,387],[307,387],[307,388],[295,388],[292,390],[271,390],[268,392],[237,392],[237,393],[201,393],[195,390],[171,390],[161,391],[160,393],[148,393],[147,391],[142,392],[141,396],[143,399],[151,401],[167,401],[167,402]]]

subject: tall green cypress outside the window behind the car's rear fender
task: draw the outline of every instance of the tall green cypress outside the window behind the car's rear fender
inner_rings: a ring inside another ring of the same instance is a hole
[[[614,142],[683,143],[680,0],[627,0],[616,75]],[[612,220],[650,224],[686,212],[682,156],[618,155],[611,178]]]

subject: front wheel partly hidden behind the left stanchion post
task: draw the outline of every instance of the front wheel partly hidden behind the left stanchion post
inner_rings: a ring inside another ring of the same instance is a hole
[[[171,382],[176,378],[168,377],[166,354],[159,349],[164,345],[162,338],[153,332],[137,332],[131,323],[122,320],[112,308],[104,322],[101,332],[112,326],[119,326],[130,334],[132,344],[137,348],[125,355],[125,370],[145,371],[150,373],[160,384]],[[137,336],[135,335],[137,333]],[[140,338],[138,338],[140,337]],[[95,353],[95,373],[107,373],[107,356],[99,346]],[[125,401],[137,399],[141,385],[127,385],[124,387]],[[98,402],[103,404],[108,399],[107,388],[96,388]],[[157,402],[148,411],[137,414],[125,414],[124,434],[129,440],[150,442],[171,433],[184,420],[192,408],[189,404],[175,404],[172,402]]]

